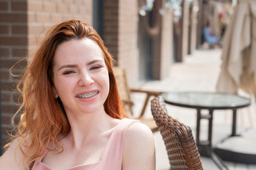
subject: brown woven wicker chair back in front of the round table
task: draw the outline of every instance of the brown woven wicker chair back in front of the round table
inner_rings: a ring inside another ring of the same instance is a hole
[[[162,97],[151,100],[151,111],[163,137],[171,169],[203,169],[191,128],[167,114]]]

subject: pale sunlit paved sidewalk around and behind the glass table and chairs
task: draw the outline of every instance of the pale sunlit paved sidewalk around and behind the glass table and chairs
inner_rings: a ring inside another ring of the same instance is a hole
[[[216,91],[215,86],[218,81],[221,65],[221,50],[196,50],[193,55],[186,56],[184,62],[173,63],[170,68],[170,75],[163,81],[149,81],[141,85],[143,89],[160,90],[160,91]],[[246,93],[239,93],[246,96]],[[144,96],[135,94],[132,96],[134,102],[134,110],[141,107],[140,101]],[[248,97],[248,96],[247,96]],[[167,110],[173,118],[182,121],[193,129],[195,137],[196,111],[194,109],[186,109],[166,105]],[[239,109],[237,111],[237,126],[245,128],[256,128],[256,107],[252,104],[250,107]],[[150,107],[147,107],[146,116],[151,116]],[[214,111],[213,125],[213,141],[218,143],[223,137],[231,132],[232,111]],[[207,127],[207,122],[202,121],[202,125]],[[204,128],[203,128],[204,129]],[[205,131],[205,132],[204,132]],[[239,128],[237,129],[239,132]],[[206,137],[207,128],[203,130],[202,137]],[[159,132],[154,134],[156,143],[156,169],[169,169],[167,153],[161,135]],[[256,143],[256,134],[255,134]],[[239,146],[238,146],[239,147]],[[255,146],[254,146],[255,147]],[[202,157],[204,169],[218,169],[211,159]],[[229,169],[256,169],[256,165],[236,164],[226,162]]]

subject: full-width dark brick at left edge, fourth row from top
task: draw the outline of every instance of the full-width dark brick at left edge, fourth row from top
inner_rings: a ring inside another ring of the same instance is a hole
[[[26,37],[2,37],[0,45],[27,45],[28,38]]]

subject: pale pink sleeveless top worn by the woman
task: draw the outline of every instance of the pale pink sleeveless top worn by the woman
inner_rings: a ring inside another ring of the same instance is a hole
[[[81,166],[72,167],[67,170],[120,170],[122,169],[123,149],[124,149],[124,138],[125,132],[132,123],[138,122],[138,120],[130,120],[127,118],[122,119],[118,125],[116,125],[111,136],[109,137],[106,148],[102,153],[99,162],[94,164],[86,164]],[[32,170],[52,170],[51,167],[47,166],[42,162],[44,156],[35,160],[35,164]]]

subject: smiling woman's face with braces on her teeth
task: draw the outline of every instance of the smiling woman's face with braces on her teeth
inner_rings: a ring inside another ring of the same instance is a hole
[[[53,84],[67,114],[104,111],[109,76],[99,45],[88,38],[61,43],[54,55]]]

